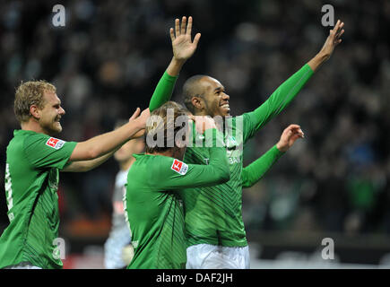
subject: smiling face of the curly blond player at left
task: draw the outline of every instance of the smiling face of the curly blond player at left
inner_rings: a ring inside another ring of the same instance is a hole
[[[43,94],[45,106],[40,109],[39,126],[47,135],[56,135],[62,131],[60,119],[65,115],[65,109],[61,107],[61,100],[53,91],[45,91]]]

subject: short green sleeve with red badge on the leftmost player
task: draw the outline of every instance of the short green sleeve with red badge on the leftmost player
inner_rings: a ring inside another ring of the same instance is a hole
[[[65,142],[49,135],[30,135],[24,140],[23,151],[30,163],[37,168],[62,170],[69,161],[77,143]]]

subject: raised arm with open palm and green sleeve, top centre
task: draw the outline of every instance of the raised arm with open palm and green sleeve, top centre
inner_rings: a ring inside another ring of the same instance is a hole
[[[195,35],[194,41],[191,40],[193,19],[188,17],[186,25],[186,17],[182,18],[181,26],[178,19],[175,20],[175,30],[170,28],[170,39],[172,41],[173,57],[170,61],[167,70],[162,75],[160,82],[157,84],[153,92],[152,99],[149,104],[151,112],[154,109],[160,108],[162,104],[170,100],[172,91],[175,88],[178,74],[186,60],[192,57],[195,53],[201,34]]]

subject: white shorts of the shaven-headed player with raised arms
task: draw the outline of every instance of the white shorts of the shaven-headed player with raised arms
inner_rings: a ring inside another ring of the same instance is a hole
[[[196,244],[186,248],[186,269],[249,269],[249,248]]]

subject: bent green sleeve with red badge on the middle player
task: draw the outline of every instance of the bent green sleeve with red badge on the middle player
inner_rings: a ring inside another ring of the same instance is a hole
[[[226,148],[221,146],[222,135],[213,130],[212,144],[200,147],[208,149],[210,160],[208,165],[186,164],[174,158],[166,157],[157,173],[159,187],[161,189],[182,189],[186,187],[211,187],[224,183],[230,179],[229,164],[226,156]],[[220,142],[220,143],[216,143]]]

